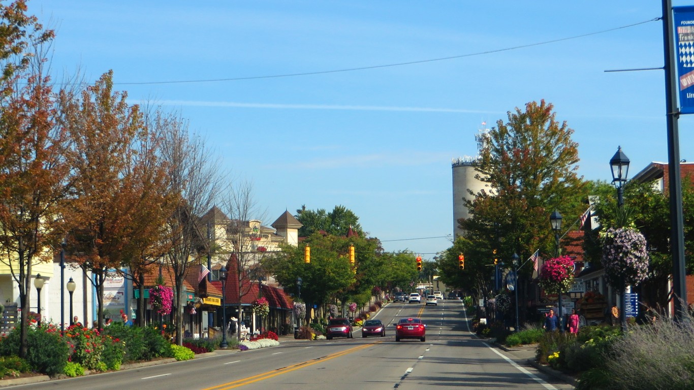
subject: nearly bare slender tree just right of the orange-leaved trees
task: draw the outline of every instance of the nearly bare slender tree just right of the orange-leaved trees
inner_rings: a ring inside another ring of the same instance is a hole
[[[176,344],[183,344],[183,281],[188,267],[198,264],[208,253],[207,234],[200,226],[202,216],[213,204],[219,188],[219,167],[210,159],[202,139],[189,135],[183,119],[171,120],[162,135],[162,159],[167,164],[170,191],[176,194],[167,219],[169,252],[165,259],[174,273],[174,307],[176,308]]]

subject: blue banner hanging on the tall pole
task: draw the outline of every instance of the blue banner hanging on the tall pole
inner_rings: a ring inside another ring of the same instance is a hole
[[[694,7],[672,7],[679,80],[679,112],[694,114]]]

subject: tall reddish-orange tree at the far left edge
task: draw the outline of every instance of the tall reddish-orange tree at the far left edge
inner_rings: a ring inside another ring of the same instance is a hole
[[[46,76],[53,31],[25,12],[24,1],[0,5],[0,259],[19,286],[20,357],[27,352],[32,265],[53,260],[69,173]]]

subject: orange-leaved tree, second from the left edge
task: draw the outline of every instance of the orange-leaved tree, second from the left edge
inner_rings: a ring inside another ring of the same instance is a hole
[[[81,266],[96,288],[99,326],[103,323],[103,283],[109,270],[119,272],[132,256],[131,240],[142,178],[137,177],[133,146],[146,139],[137,105],[126,103],[125,92],[114,92],[112,71],[78,96],[62,95],[61,125],[72,143],[69,163],[74,170],[75,197],[65,220],[71,229],[67,258]],[[149,207],[149,205],[146,205]]]

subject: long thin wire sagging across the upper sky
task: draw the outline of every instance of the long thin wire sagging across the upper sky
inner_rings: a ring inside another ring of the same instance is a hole
[[[469,54],[462,54],[460,56],[450,56],[450,57],[442,57],[442,58],[432,58],[429,60],[418,60],[418,61],[409,61],[409,62],[398,62],[395,64],[387,64],[387,65],[373,65],[370,67],[355,67],[355,68],[346,68],[346,69],[334,69],[334,70],[326,70],[326,71],[310,71],[310,72],[305,72],[305,73],[290,73],[290,74],[275,74],[275,75],[270,75],[270,76],[249,76],[249,77],[235,77],[235,78],[211,78],[211,79],[201,79],[201,80],[174,80],[174,81],[143,81],[143,82],[130,82],[130,83],[113,83],[114,85],[152,85],[152,84],[182,84],[182,83],[215,83],[219,81],[239,81],[239,80],[257,80],[261,78],[282,78],[282,77],[296,77],[296,76],[312,76],[316,74],[329,74],[329,73],[339,73],[339,72],[344,72],[344,71],[357,71],[357,70],[366,70],[366,69],[378,69],[378,68],[386,68],[386,67],[400,67],[403,65],[413,65],[413,64],[423,64],[425,62],[435,62],[435,61],[444,61],[444,60],[453,60],[455,58],[464,58],[464,57],[473,57],[473,56],[483,56],[484,54],[491,54],[491,53],[500,53],[502,51],[510,51],[510,50],[516,50],[516,49],[525,49],[526,47],[532,47],[532,46],[540,46],[543,44],[550,44],[550,43],[555,43],[555,42],[561,42],[561,41],[566,41],[566,40],[575,40],[577,38],[582,38],[582,37],[588,37],[590,35],[597,35],[597,34],[602,34],[602,33],[609,33],[610,31],[616,31],[620,30],[622,28],[629,28],[629,27],[634,27],[638,26],[640,24],[645,24],[649,22],[656,22],[660,20],[661,17],[656,17],[654,19],[650,20],[645,20],[643,22],[638,22],[634,24],[628,24],[627,26],[620,26],[620,27],[615,27],[615,28],[609,28],[607,30],[602,30],[602,31],[595,31],[593,33],[586,33],[582,35],[574,35],[573,37],[564,37],[564,38],[559,38],[556,40],[549,40],[549,41],[544,41],[544,42],[537,42],[537,43],[532,43],[532,44],[524,44],[521,46],[512,46],[512,47],[507,47],[505,49],[496,49],[496,50],[489,50],[489,51],[480,51],[479,53],[469,53]]]

